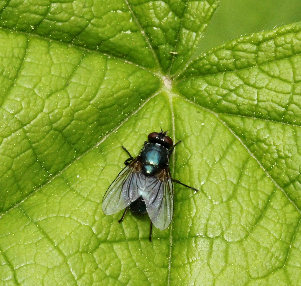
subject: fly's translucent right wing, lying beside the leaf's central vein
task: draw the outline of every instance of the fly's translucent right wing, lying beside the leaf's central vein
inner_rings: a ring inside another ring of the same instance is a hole
[[[159,176],[147,177],[147,191],[142,193],[146,211],[152,223],[160,230],[169,226],[173,216],[173,186],[169,170]]]

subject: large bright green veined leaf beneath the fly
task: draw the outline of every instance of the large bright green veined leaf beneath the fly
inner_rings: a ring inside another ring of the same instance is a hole
[[[217,1],[2,1],[2,285],[300,285],[301,26],[191,60]],[[106,216],[154,131],[174,218]]]

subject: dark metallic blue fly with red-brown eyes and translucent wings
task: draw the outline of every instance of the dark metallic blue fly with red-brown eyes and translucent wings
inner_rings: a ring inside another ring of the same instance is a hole
[[[152,227],[160,230],[169,226],[173,216],[173,184],[181,184],[197,191],[179,180],[172,179],[169,170],[169,157],[175,145],[167,132],[152,132],[147,136],[148,141],[137,157],[129,155],[125,160],[126,167],[111,183],[102,200],[102,209],[105,214],[115,214],[123,209],[121,222],[130,208],[137,214],[147,212],[151,219],[149,240],[151,241]]]

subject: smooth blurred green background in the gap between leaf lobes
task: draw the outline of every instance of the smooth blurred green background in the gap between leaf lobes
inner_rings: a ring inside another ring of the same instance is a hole
[[[196,54],[231,39],[301,21],[301,0],[221,0]]]

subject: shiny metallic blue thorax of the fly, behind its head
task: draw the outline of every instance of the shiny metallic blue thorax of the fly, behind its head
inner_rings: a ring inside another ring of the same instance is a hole
[[[158,143],[146,143],[140,158],[144,175],[154,176],[168,165],[169,150]]]

